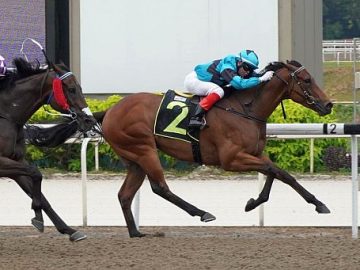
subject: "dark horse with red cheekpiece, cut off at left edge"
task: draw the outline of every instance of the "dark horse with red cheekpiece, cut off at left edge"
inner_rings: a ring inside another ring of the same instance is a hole
[[[14,60],[16,71],[0,81],[0,177],[9,177],[32,198],[32,224],[44,230],[42,209],[60,233],[78,241],[86,236],[68,227],[41,193],[42,174],[24,160],[24,124],[44,104],[68,114],[79,130],[96,124],[75,76],[64,65],[41,69],[23,58]],[[53,90],[54,89],[54,90]],[[56,91],[55,91],[56,89]]]

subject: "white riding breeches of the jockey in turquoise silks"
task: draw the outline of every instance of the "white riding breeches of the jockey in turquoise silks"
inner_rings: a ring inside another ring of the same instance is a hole
[[[218,94],[220,98],[224,96],[224,90],[220,86],[199,80],[195,71],[185,77],[184,86],[186,91],[198,96],[208,96],[211,93]]]

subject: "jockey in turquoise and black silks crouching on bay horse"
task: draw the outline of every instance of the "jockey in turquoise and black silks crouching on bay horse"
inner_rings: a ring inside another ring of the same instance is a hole
[[[224,96],[223,86],[230,84],[237,90],[243,90],[270,80],[274,72],[267,71],[260,76],[254,72],[258,65],[258,56],[252,50],[243,50],[239,55],[228,55],[223,59],[197,65],[185,77],[184,86],[186,91],[206,97],[197,105],[189,127],[203,125],[205,113]]]

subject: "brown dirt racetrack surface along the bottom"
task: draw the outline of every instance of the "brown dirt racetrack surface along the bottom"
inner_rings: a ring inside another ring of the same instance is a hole
[[[351,228],[125,227],[79,228],[72,243],[54,227],[0,227],[1,269],[360,269]]]

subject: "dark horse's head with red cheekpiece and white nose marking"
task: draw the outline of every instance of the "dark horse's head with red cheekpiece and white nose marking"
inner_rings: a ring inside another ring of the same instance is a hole
[[[23,58],[16,58],[14,64],[18,79],[28,78],[29,89],[41,89],[41,104],[50,104],[56,111],[76,120],[82,132],[91,130],[97,123],[75,75],[64,64],[51,64],[48,69],[41,69],[39,65],[34,66]]]

